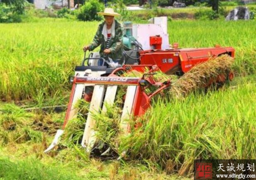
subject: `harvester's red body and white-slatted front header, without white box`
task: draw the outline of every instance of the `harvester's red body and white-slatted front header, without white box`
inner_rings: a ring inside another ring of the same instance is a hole
[[[151,45],[159,47],[159,45],[161,46],[160,41],[158,37],[152,38]],[[175,46],[177,47],[178,45],[176,44]],[[129,133],[129,124],[125,120],[131,118],[131,116],[142,116],[150,107],[151,97],[168,88],[171,84],[170,81],[156,82],[154,80],[155,71],[162,71],[166,74],[176,73],[181,76],[183,73],[187,73],[193,66],[222,54],[229,54],[231,57],[234,57],[234,52],[232,47],[219,47],[218,45],[211,48],[145,50],[139,52],[139,65],[125,64],[120,68],[112,69],[106,66],[77,66],[63,129],[68,121],[76,116],[77,109],[75,104],[78,100],[81,98],[90,99],[88,100],[90,101],[90,108],[82,146],[86,147],[87,152],[91,152],[97,142],[95,137],[96,121],[93,114],[104,113],[106,111],[106,103],[114,104],[118,85],[127,85],[120,128],[124,133]],[[145,69],[149,69],[149,71],[145,73]],[[122,77],[118,75],[120,71],[140,71],[144,75],[137,78]],[[232,80],[233,73],[220,74],[213,81],[224,82],[227,78]],[[154,88],[153,92],[146,93],[145,89],[149,86],[155,86],[156,88]],[[90,87],[93,87],[93,93],[92,91],[88,92],[87,89]],[[54,141],[45,152],[49,152],[56,146],[59,137],[63,134],[63,129],[57,131]],[[104,155],[106,152],[102,154]]]

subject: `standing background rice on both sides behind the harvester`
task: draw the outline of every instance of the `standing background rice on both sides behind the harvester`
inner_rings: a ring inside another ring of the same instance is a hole
[[[56,26],[56,24],[58,24]],[[83,58],[98,22],[51,20],[42,23],[0,24],[0,98],[35,99],[59,95],[68,76]],[[255,73],[255,21],[171,21],[170,42],[180,47],[232,46],[239,74]]]

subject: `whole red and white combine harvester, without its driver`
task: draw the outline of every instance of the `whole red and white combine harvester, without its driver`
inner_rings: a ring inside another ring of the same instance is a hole
[[[98,142],[95,136],[96,121],[94,113],[105,113],[107,104],[113,105],[119,85],[127,86],[124,96],[122,115],[119,123],[122,134],[128,134],[130,127],[127,119],[132,116],[142,116],[150,107],[152,97],[166,88],[170,88],[171,81],[158,82],[154,78],[157,71],[166,74],[182,76],[199,63],[206,62],[222,54],[234,57],[232,47],[189,48],[180,49],[178,43],[170,48],[167,33],[167,17],[155,17],[151,24],[124,23],[125,61],[120,67],[97,66],[99,53],[91,53],[83,60],[82,66],[76,66],[73,77],[73,88],[66,111],[62,129],[57,130],[51,145],[45,150],[49,152],[59,142],[60,136],[69,120],[76,117],[78,109],[75,104],[79,99],[90,102],[89,113],[86,119],[85,130],[81,142],[87,152],[91,152]],[[104,59],[110,66],[111,59]],[[87,62],[88,66],[85,66]],[[146,69],[146,70],[145,70]],[[139,71],[141,77],[124,77],[124,72]],[[232,72],[219,74],[212,82],[223,83],[232,80]],[[146,88],[154,86],[154,90],[145,92]],[[110,149],[107,149],[109,151]],[[106,152],[107,152],[106,151]],[[102,155],[106,154],[102,153]]]

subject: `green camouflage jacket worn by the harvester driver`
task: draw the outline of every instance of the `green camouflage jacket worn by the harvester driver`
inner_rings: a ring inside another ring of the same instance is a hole
[[[122,25],[115,21],[115,36],[110,38],[110,54],[108,55],[111,59],[119,60],[122,57],[123,52],[123,28]],[[102,22],[94,36],[93,42],[89,45],[89,50],[92,51],[100,45],[100,57],[104,57],[103,51],[106,49],[107,42],[102,35],[102,29],[105,24],[105,21]]]

